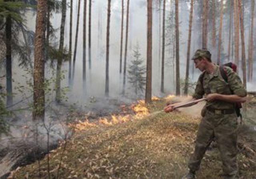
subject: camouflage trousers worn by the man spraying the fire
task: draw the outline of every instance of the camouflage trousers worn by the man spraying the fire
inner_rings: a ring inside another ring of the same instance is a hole
[[[197,171],[204,157],[206,149],[216,140],[222,159],[222,170],[226,178],[238,177],[236,163],[237,147],[237,119],[236,114],[215,114],[206,110],[198,128],[196,146],[190,158],[188,167],[191,171]]]

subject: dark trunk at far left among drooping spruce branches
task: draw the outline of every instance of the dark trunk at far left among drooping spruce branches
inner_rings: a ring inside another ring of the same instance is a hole
[[[7,106],[12,105],[12,19],[11,16],[7,16],[5,25],[6,34],[6,92]]]

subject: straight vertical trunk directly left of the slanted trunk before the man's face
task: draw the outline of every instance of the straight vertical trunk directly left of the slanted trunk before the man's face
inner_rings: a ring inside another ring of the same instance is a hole
[[[176,36],[176,95],[180,95],[180,40],[179,40],[179,1],[175,0],[175,36]]]

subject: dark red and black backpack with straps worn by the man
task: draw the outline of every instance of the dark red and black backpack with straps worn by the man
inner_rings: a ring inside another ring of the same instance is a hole
[[[237,66],[236,66],[236,64],[234,64],[232,62],[228,62],[226,64],[220,65],[220,74],[221,74],[223,80],[226,83],[228,83],[228,74],[227,74],[227,71],[224,68],[225,66],[230,67],[234,72],[236,72]],[[202,75],[202,78],[200,79],[201,83],[203,82],[203,76],[204,76],[204,74]],[[241,102],[236,102],[235,103],[235,111],[236,111],[237,117],[240,117],[240,124],[242,124],[242,114],[240,113],[241,108],[242,108],[242,103]]]

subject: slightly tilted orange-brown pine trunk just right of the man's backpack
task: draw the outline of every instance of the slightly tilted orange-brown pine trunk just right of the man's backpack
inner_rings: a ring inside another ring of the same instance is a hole
[[[242,13],[242,2],[238,0],[238,10],[240,18],[240,34],[242,43],[242,72],[243,72],[243,84],[246,88],[246,57],[245,57],[245,46],[244,46],[244,17]]]

